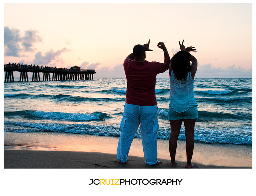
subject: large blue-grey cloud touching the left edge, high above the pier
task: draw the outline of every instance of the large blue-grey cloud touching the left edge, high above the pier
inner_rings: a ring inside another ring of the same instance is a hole
[[[4,27],[4,56],[20,57],[21,52],[33,52],[33,44],[42,41],[37,33],[36,30],[27,30],[22,36],[18,29]]]

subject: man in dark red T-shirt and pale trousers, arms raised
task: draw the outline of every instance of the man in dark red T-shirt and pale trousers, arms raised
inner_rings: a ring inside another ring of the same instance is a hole
[[[155,97],[155,80],[158,73],[169,68],[170,56],[165,44],[159,42],[158,48],[164,53],[164,63],[146,61],[147,44],[136,45],[133,53],[124,61],[127,80],[126,101],[123,119],[120,124],[121,134],[117,147],[117,159],[121,164],[127,162],[133,137],[140,124],[145,162],[148,165],[159,165],[157,160],[158,108]]]

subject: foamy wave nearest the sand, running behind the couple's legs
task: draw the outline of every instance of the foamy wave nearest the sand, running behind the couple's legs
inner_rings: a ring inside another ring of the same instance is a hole
[[[89,125],[89,124],[60,124],[4,121],[4,132],[64,132],[76,134],[90,134],[102,136],[119,136],[119,124]],[[140,128],[136,131],[136,138],[141,138]],[[169,139],[170,128],[159,127],[158,139]],[[184,127],[181,127],[179,140],[185,139]],[[194,140],[203,143],[243,144],[252,145],[252,126],[244,125],[230,128],[196,127]]]

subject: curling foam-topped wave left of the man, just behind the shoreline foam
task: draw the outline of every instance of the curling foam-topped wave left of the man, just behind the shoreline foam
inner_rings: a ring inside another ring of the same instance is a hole
[[[25,118],[44,118],[53,120],[75,120],[75,121],[92,121],[103,120],[110,116],[102,112],[94,113],[64,113],[64,112],[44,112],[34,110],[21,110],[15,112],[4,112],[5,117],[25,117]]]

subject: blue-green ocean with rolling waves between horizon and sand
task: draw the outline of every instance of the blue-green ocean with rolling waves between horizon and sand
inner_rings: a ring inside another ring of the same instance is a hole
[[[155,91],[158,139],[168,140],[169,78],[157,78]],[[125,78],[4,82],[4,132],[118,137],[125,94]],[[195,78],[194,94],[195,142],[252,145],[252,78]],[[183,124],[178,139],[185,140]]]

